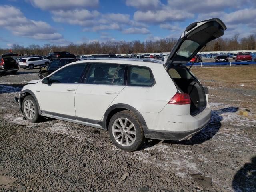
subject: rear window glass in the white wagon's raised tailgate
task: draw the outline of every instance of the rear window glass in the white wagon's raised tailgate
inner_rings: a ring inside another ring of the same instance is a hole
[[[197,42],[185,40],[180,46],[177,55],[189,58],[197,50],[198,47],[199,44]]]

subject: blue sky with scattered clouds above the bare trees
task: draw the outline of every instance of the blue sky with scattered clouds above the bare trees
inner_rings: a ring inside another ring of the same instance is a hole
[[[210,18],[224,38],[256,34],[256,0],[0,0],[0,48],[179,38]]]

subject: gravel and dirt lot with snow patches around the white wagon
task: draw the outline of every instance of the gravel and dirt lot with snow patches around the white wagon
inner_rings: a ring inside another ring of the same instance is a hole
[[[192,67],[211,122],[191,140],[147,140],[136,152],[103,130],[22,120],[14,96],[37,72],[0,76],[0,191],[256,191],[256,66]]]

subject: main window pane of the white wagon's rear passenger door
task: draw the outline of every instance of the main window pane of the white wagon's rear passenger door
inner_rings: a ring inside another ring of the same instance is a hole
[[[118,65],[116,64],[92,64],[86,82],[88,84],[111,85],[117,68]]]

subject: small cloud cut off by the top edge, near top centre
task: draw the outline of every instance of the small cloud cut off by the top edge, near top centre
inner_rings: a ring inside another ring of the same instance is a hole
[[[160,0],[126,0],[126,5],[139,10],[154,10],[162,6],[162,3]]]

